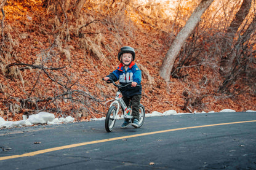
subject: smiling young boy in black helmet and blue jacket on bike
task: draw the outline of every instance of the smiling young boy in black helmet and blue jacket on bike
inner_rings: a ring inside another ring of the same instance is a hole
[[[121,62],[118,68],[111,72],[110,75],[104,77],[104,80],[113,80],[116,82],[119,80],[121,85],[126,85],[127,83],[132,83],[131,86],[122,88],[122,99],[129,106],[129,102],[132,102],[132,115],[134,122],[130,122],[129,119],[124,120],[121,128],[126,128],[130,123],[134,128],[138,128],[138,118],[139,118],[139,105],[140,99],[142,98],[142,86],[140,82],[142,80],[142,71],[138,69],[138,66],[134,63],[135,60],[135,50],[132,47],[125,46],[119,50],[118,60]],[[140,86],[137,86],[140,85]]]

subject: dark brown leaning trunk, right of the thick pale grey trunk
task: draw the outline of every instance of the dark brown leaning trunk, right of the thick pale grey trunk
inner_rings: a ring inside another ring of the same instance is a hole
[[[244,0],[242,2],[242,5],[236,13],[236,17],[231,22],[230,26],[228,27],[225,36],[223,36],[222,41],[222,58],[220,61],[220,73],[222,75],[228,74],[228,72],[231,71],[232,63],[234,61],[234,53],[231,55],[226,55],[226,53],[230,53],[230,50],[232,50],[233,45],[233,39],[236,35],[236,32],[238,31],[239,26],[241,26],[242,22],[246,18],[246,16],[249,14],[250,6],[251,6],[252,0]]]

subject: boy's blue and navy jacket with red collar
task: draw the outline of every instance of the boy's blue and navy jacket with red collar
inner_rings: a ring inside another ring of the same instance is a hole
[[[111,72],[110,75],[107,75],[107,77],[110,77],[111,80],[116,82],[119,80],[119,83],[121,85],[126,85],[127,83],[132,83],[132,82],[137,82],[139,87],[131,87],[130,85],[122,88],[122,96],[125,96],[127,98],[130,98],[134,95],[142,95],[142,86],[141,86],[141,81],[142,81],[142,71],[138,69],[137,64],[132,61],[130,63],[129,68],[127,71],[124,69],[124,65],[121,63],[118,68]]]

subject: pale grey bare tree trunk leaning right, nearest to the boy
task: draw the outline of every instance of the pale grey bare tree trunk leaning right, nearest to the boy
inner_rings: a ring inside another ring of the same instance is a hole
[[[210,6],[210,4],[212,4],[213,1],[214,0],[202,0],[199,6],[194,10],[193,14],[191,14],[188,21],[186,21],[186,25],[178,33],[174,42],[172,42],[170,49],[162,61],[162,66],[159,71],[161,77],[167,82],[170,80],[170,73],[172,71],[172,67],[174,66],[174,61],[176,60],[182,45],[188,36],[190,36],[196,25],[199,23],[204,11],[206,11],[206,9]]]

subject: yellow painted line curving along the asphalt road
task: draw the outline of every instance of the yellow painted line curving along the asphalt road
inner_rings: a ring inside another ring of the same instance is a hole
[[[249,123],[249,122],[256,122],[256,120],[242,121],[242,122],[218,123],[218,124],[202,125],[202,126],[191,126],[191,127],[185,127],[185,128],[154,131],[154,132],[149,132],[149,133],[140,133],[140,134],[134,134],[134,135],[129,135],[129,136],[113,137],[110,139],[102,139],[102,140],[98,140],[98,141],[83,142],[83,143],[79,143],[79,144],[64,145],[62,147],[54,147],[54,148],[50,148],[50,149],[38,150],[35,152],[24,153],[22,155],[3,156],[3,157],[0,157],[0,161],[9,160],[9,159],[13,159],[13,158],[21,158],[21,157],[25,157],[25,156],[34,156],[34,155],[39,155],[41,153],[53,152],[53,151],[62,150],[62,149],[69,149],[69,148],[73,148],[73,147],[79,147],[82,145],[98,144],[98,143],[102,143],[102,142],[116,141],[119,139],[127,139],[127,138],[131,138],[131,137],[146,136],[146,135],[150,135],[150,134],[166,133],[166,132],[170,132],[170,131],[179,131],[179,130],[183,130],[183,129],[204,128],[204,127],[210,127],[210,126],[231,125],[231,124]]]

